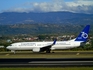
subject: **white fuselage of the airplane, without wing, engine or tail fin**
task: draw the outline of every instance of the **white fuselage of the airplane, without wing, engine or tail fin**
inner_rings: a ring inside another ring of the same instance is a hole
[[[42,48],[47,45],[51,45],[53,42],[19,42],[13,43],[7,47],[9,50],[33,50],[34,48]],[[80,42],[77,41],[57,41],[50,49],[70,49],[80,46]]]

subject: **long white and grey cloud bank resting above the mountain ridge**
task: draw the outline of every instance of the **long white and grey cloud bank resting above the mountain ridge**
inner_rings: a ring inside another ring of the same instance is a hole
[[[69,11],[75,13],[93,14],[93,0],[74,0],[65,2],[65,0],[51,0],[51,2],[25,3],[20,7],[11,8],[7,11],[12,12],[51,12],[51,11]]]

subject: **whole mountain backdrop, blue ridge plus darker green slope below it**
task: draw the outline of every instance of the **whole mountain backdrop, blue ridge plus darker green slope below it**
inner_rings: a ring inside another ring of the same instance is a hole
[[[87,24],[93,34],[93,14],[71,12],[0,13],[0,35],[78,34]]]

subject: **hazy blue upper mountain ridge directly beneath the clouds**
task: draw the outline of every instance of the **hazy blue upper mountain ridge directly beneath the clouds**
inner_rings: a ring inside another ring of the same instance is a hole
[[[71,12],[0,13],[0,24],[27,24],[27,23],[92,24],[93,14]]]

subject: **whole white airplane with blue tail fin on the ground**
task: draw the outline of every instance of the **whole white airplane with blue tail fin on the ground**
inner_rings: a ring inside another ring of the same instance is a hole
[[[81,46],[83,42],[86,42],[88,39],[90,25],[86,25],[86,27],[80,32],[80,34],[72,40],[68,41],[43,41],[43,42],[18,42],[13,43],[6,48],[14,52],[16,50],[32,50],[33,52],[44,52],[50,53],[51,50],[56,49],[70,49]]]

